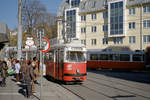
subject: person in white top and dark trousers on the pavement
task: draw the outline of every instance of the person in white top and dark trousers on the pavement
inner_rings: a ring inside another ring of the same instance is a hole
[[[20,82],[19,82],[20,81],[20,76],[19,76],[20,68],[21,68],[21,66],[20,66],[19,60],[16,60],[15,74],[16,74],[16,82],[17,82],[17,84],[20,84]]]

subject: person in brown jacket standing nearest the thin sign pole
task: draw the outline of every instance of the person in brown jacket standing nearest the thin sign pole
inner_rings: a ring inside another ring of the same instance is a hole
[[[32,80],[34,80],[33,67],[31,61],[28,62],[28,65],[25,67],[25,84],[26,84],[26,97],[30,98],[32,96]]]

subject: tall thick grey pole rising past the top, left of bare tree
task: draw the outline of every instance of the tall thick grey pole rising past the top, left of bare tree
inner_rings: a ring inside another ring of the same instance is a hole
[[[20,60],[22,51],[22,0],[18,0],[18,51],[17,51],[17,59]]]

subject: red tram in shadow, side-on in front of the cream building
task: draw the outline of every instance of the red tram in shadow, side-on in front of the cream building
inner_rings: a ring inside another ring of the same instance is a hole
[[[144,52],[89,51],[87,67],[92,69],[142,70]]]

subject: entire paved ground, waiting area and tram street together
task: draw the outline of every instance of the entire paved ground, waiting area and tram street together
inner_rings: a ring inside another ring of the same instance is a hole
[[[88,70],[83,84],[62,85],[43,78],[43,100],[150,100],[150,73],[113,70]],[[38,80],[39,81],[39,80]],[[36,85],[32,100],[40,99]],[[0,100],[26,100],[23,85],[8,77],[0,87]]]

